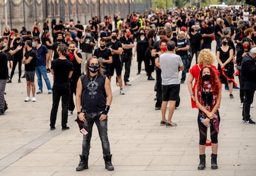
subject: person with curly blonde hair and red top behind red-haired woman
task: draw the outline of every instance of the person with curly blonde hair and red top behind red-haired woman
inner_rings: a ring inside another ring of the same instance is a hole
[[[200,71],[202,70],[203,66],[210,66],[213,68],[215,73],[220,76],[220,73],[218,72],[217,68],[213,63],[215,62],[215,56],[212,54],[210,49],[203,49],[200,51],[200,54],[198,55],[198,63],[192,66],[189,70],[189,78],[187,79],[187,87],[189,88],[190,97],[191,97],[191,105],[192,108],[198,108],[195,103],[195,86],[197,86],[197,78],[200,75]],[[192,83],[195,79],[194,86],[192,86]]]

